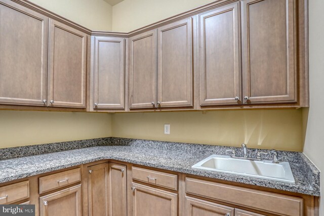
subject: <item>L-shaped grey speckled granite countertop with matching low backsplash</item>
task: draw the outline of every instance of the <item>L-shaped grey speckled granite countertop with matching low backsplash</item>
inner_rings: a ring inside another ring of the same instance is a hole
[[[191,168],[193,164],[212,154],[225,155],[227,149],[235,149],[237,155],[242,155],[241,148],[124,138],[102,138],[0,149],[0,183],[102,159],[114,159],[185,174],[313,196],[320,195],[319,170],[303,153],[299,152],[278,151],[280,161],[290,162],[296,184]],[[257,150],[249,149],[248,153],[251,157],[255,157]],[[268,156],[265,159],[271,158]]]

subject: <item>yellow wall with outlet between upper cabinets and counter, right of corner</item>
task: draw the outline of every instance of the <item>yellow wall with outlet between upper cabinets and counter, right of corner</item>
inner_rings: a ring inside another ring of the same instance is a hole
[[[164,134],[170,124],[170,135]],[[302,151],[302,110],[112,114],[114,137]]]

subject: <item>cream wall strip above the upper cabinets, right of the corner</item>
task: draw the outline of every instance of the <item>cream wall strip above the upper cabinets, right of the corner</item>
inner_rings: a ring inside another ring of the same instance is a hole
[[[124,0],[112,7],[112,30],[129,32],[215,0]]]

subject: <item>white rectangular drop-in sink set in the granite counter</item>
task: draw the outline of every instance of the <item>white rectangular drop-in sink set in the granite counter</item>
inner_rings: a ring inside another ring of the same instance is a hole
[[[271,160],[247,160],[224,155],[211,155],[194,164],[192,168],[295,184],[288,162],[272,163]]]

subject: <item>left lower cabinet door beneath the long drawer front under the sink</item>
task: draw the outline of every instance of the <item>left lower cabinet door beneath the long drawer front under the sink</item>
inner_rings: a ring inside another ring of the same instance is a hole
[[[185,197],[186,216],[234,216],[234,208],[192,197]]]

